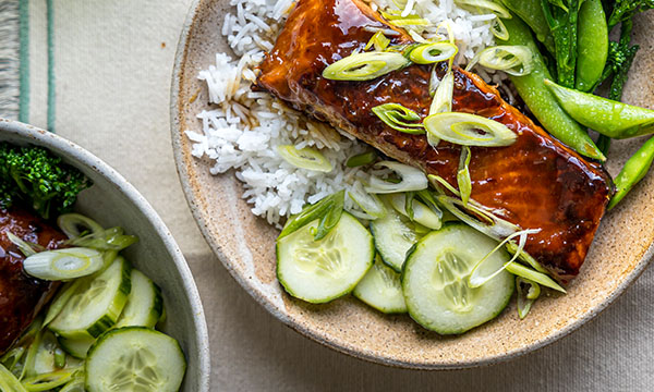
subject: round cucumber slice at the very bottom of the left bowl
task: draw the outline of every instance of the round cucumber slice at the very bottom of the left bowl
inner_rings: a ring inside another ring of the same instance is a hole
[[[86,389],[177,392],[186,360],[174,339],[144,327],[125,327],[101,335],[86,360]]]

